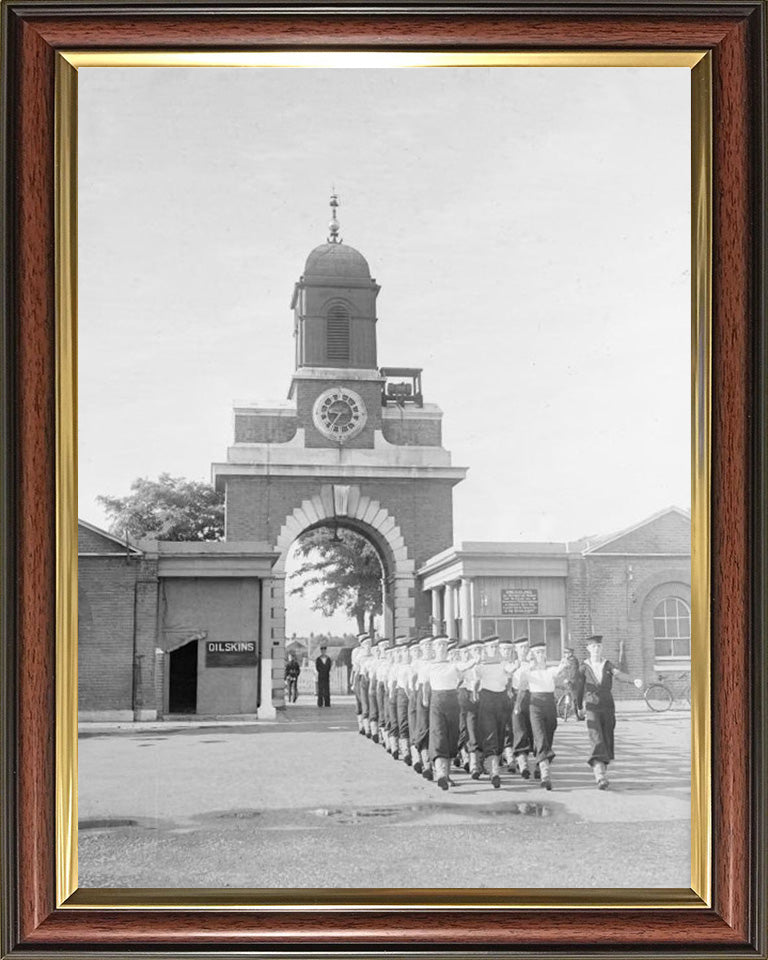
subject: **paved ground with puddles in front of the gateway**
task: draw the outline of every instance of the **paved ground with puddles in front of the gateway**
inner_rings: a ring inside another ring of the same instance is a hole
[[[687,887],[690,723],[632,712],[611,790],[584,724],[555,789],[453,774],[448,793],[357,735],[350,702],[274,723],[88,725],[80,884],[134,887]]]

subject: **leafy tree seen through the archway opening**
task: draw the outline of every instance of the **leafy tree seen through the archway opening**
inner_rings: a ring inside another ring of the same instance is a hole
[[[368,540],[354,530],[318,527],[299,538],[296,556],[301,563],[291,574],[291,580],[298,581],[291,595],[322,587],[313,610],[326,617],[343,610],[357,622],[360,633],[366,620],[372,633],[374,617],[381,613],[382,568]]]

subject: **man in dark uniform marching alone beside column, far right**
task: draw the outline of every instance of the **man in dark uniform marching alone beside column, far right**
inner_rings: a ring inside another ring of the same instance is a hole
[[[608,764],[613,760],[613,733],[616,728],[616,709],[613,702],[614,678],[634,683],[638,690],[643,681],[633,680],[610,660],[603,659],[603,638],[587,637],[588,658],[581,664],[576,678],[576,709],[584,710],[592,753],[587,763],[592,767],[598,790],[608,789]]]

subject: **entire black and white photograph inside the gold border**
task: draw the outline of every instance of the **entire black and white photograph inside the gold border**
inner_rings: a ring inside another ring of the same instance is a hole
[[[82,887],[691,885],[691,72],[81,67]]]

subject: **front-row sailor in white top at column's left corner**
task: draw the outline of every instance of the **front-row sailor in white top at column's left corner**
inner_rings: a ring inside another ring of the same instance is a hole
[[[429,666],[429,756],[437,775],[437,785],[447,790],[451,760],[459,752],[459,680],[471,670],[472,662],[461,663],[449,658],[455,647],[448,637],[432,641],[434,659]],[[426,705],[426,700],[424,701]]]

